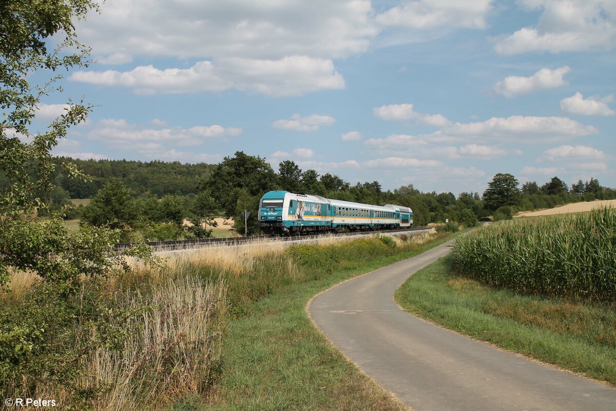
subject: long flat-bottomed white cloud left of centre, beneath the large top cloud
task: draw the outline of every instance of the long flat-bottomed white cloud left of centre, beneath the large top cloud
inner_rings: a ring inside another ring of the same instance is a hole
[[[343,89],[344,78],[331,60],[302,55],[280,60],[230,57],[201,61],[190,68],[159,70],[152,65],[131,71],[76,71],[71,81],[129,87],[137,94],[221,92],[229,89],[272,96],[298,96],[322,89]]]

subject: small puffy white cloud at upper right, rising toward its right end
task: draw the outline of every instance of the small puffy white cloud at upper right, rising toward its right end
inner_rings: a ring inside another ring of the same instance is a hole
[[[516,94],[527,94],[538,90],[553,89],[567,84],[562,78],[571,69],[567,66],[549,70],[541,68],[530,77],[509,76],[496,83],[494,87],[498,94],[506,97],[514,97]]]

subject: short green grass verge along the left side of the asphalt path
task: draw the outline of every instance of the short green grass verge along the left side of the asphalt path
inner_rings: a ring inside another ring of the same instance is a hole
[[[343,280],[423,253],[456,235],[440,235],[414,250],[370,261],[344,261],[334,272],[278,288],[229,324],[225,368],[211,404],[176,404],[177,410],[403,410],[333,348],[304,310],[312,296]],[[311,268],[304,259],[302,270]],[[325,263],[324,263],[325,264]],[[327,265],[327,264],[325,264]]]

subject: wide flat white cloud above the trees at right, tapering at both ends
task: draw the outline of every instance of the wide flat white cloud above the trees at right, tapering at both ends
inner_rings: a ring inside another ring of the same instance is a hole
[[[593,126],[585,126],[567,117],[511,116],[492,117],[474,123],[455,123],[430,136],[453,136],[480,140],[513,140],[528,144],[566,140],[595,134]]]

